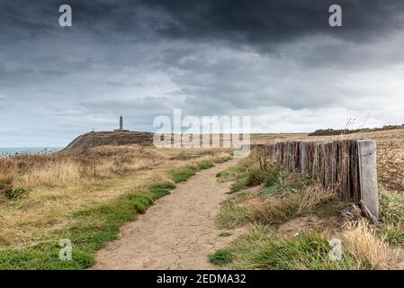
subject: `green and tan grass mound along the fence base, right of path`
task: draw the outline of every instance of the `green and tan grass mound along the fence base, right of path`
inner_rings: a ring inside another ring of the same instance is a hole
[[[291,173],[280,166],[271,166],[269,170],[262,170],[254,164],[249,168],[233,166],[217,176],[235,179],[230,188],[232,197],[221,203],[220,212],[217,215],[217,224],[221,229],[242,226],[248,221],[279,225],[286,220],[310,212],[312,208],[321,210],[323,205],[333,200],[332,197],[327,196],[328,193],[320,194],[325,192],[324,190],[312,194],[312,189],[317,183],[308,175]],[[256,202],[255,205],[243,205],[242,202],[251,198],[247,187],[256,185],[263,185],[263,189],[253,198],[259,197],[261,201]],[[277,194],[282,194],[282,199],[270,198]],[[319,196],[318,199],[315,195]]]

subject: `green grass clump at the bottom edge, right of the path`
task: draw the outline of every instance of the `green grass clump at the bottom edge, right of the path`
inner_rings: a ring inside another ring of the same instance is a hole
[[[229,269],[263,270],[355,270],[366,268],[351,254],[342,259],[328,258],[328,239],[317,232],[307,232],[295,238],[274,240],[270,230],[256,226],[233,241],[229,247],[217,250],[211,263]]]

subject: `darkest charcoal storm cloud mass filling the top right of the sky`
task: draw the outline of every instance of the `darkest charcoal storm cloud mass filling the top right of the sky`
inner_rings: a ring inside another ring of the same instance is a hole
[[[330,34],[345,40],[370,40],[376,34],[402,29],[404,2],[353,0],[144,0],[144,5],[169,15],[159,33],[175,39],[229,40],[271,47],[304,36]],[[328,25],[328,7],[340,4],[343,27]]]

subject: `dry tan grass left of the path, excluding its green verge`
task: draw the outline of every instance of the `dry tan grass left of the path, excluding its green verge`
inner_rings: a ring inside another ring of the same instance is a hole
[[[201,157],[222,157],[222,153],[223,149],[120,146],[94,148],[80,157],[51,154],[1,158],[0,180],[27,189],[28,194],[10,201],[0,185],[0,247],[30,246],[49,237],[50,231],[66,226],[75,211],[170,181],[167,171],[194,166]]]

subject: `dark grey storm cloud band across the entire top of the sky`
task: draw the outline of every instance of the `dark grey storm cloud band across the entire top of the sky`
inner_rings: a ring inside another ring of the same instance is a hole
[[[383,31],[400,30],[400,0],[23,0],[0,3],[3,30],[27,36],[58,29],[60,4],[74,11],[74,29],[140,36],[156,31],[167,39],[224,40],[265,49],[304,36],[329,34],[344,40],[370,40]],[[343,27],[328,25],[328,7],[343,8]],[[134,38],[134,37],[133,37]]]

